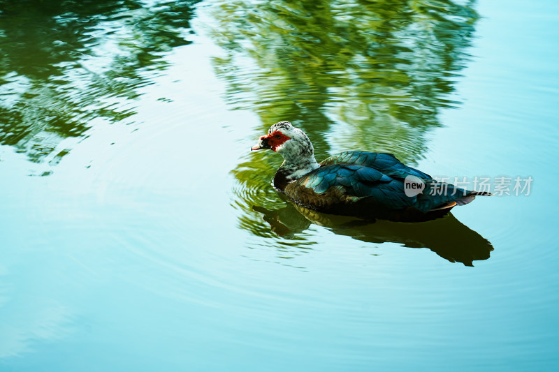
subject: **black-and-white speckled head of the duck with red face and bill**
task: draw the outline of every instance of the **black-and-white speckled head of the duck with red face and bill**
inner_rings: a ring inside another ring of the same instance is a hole
[[[263,135],[251,150],[271,149],[286,160],[314,156],[314,148],[305,132],[295,128],[289,121],[279,121],[270,126],[268,135]]]

